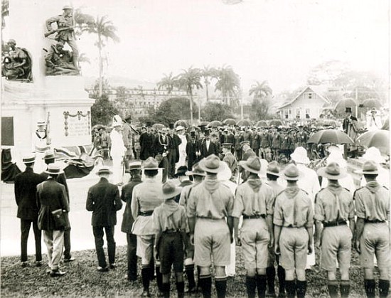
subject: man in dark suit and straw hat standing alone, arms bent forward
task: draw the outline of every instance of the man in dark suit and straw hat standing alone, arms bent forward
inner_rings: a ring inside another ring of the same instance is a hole
[[[95,238],[95,249],[99,266],[97,270],[107,272],[117,267],[115,264],[114,225],[117,224],[117,211],[122,208],[117,186],[109,183],[109,171],[107,166],[102,166],[97,172],[100,181],[88,190],[86,209],[92,211],[92,230]],[[103,250],[103,230],[106,233],[107,252],[109,255],[109,267],[107,267],[105,252]]]

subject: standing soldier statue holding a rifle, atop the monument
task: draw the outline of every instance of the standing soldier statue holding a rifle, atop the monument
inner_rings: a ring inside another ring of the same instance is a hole
[[[75,38],[75,20],[73,19],[73,9],[72,7],[65,5],[63,7],[63,14],[59,16],[53,16],[46,20],[46,28],[48,33],[45,33],[45,37],[57,33],[55,36],[55,41],[58,43],[68,43],[72,49],[72,63],[75,69],[77,69],[77,57],[79,55],[79,50],[77,48],[76,38]],[[52,28],[52,23],[57,23],[57,29]],[[56,45],[57,46],[57,45]]]

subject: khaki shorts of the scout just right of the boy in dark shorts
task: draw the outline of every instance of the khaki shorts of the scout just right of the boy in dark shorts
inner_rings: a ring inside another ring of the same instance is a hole
[[[200,267],[230,265],[230,230],[224,219],[197,218],[194,230],[194,263]]]

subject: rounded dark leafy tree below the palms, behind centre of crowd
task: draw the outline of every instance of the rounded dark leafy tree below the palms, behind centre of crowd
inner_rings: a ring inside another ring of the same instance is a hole
[[[179,119],[186,119],[190,115],[190,99],[187,97],[172,97],[159,105],[154,122],[168,125]],[[197,106],[195,105],[195,110]],[[193,119],[193,118],[192,118]]]

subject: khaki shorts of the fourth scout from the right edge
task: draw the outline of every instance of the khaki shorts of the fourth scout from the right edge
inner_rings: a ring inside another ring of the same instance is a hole
[[[267,267],[267,245],[270,236],[264,218],[243,220],[240,230],[245,269],[264,269]]]

